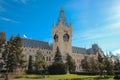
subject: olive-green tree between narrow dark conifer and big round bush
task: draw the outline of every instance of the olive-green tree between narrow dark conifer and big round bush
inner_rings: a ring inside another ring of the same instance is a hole
[[[47,69],[47,64],[45,63],[45,58],[42,55],[41,51],[37,51],[35,55],[35,70],[36,73],[43,74]]]

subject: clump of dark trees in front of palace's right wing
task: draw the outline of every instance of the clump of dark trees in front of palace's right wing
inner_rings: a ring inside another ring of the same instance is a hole
[[[84,72],[88,74],[100,75],[104,77],[113,76],[116,72],[120,73],[120,59],[112,59],[109,56],[101,57],[98,53],[97,59],[85,56],[81,60]]]

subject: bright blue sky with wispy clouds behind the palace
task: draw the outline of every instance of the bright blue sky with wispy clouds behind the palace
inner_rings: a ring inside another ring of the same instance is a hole
[[[105,52],[120,52],[120,0],[0,0],[0,31],[7,39],[20,34],[52,42],[61,6],[72,22],[72,45],[97,43]]]

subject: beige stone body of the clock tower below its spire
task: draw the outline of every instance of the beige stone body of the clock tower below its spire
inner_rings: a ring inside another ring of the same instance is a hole
[[[60,22],[57,27],[52,29],[53,36],[53,53],[56,52],[57,47],[60,49],[60,52],[63,56],[67,53],[72,53],[72,27],[63,26]]]

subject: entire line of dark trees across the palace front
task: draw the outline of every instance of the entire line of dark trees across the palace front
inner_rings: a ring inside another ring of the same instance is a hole
[[[64,62],[58,47],[55,52],[54,62],[51,65],[46,63],[42,52],[38,50],[35,53],[35,60],[33,60],[33,56],[29,56],[27,66],[22,51],[22,40],[20,35],[12,36],[8,41],[6,41],[4,36],[1,36],[0,53],[2,53],[2,59],[0,58],[0,71],[25,71],[27,67],[26,72],[29,74],[66,74],[68,72],[75,72],[75,60],[68,53],[66,54],[66,62]],[[97,59],[85,56],[84,59],[81,60],[81,66],[83,72],[92,72],[101,76],[113,75],[116,71],[120,72],[119,58],[116,58],[116,60],[113,61],[108,56],[101,57],[100,53],[98,53]]]

